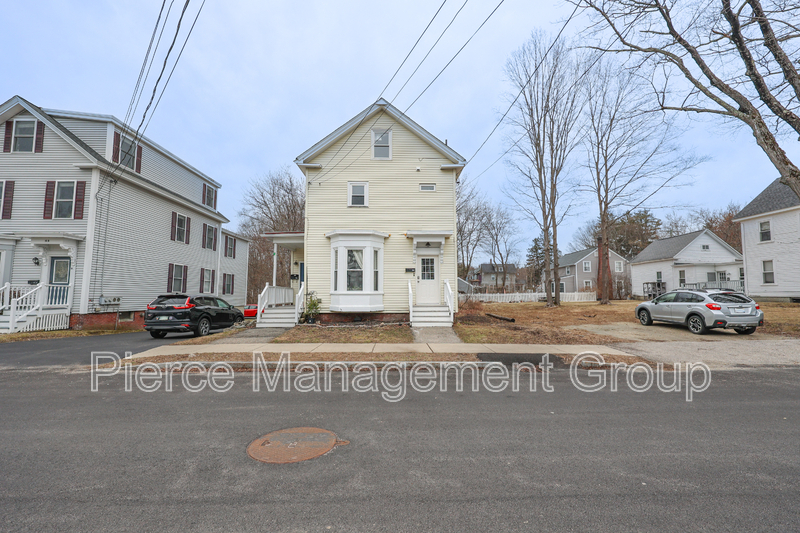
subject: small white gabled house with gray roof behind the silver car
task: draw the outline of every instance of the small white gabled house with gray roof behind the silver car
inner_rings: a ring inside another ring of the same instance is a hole
[[[742,290],[742,254],[707,229],[658,239],[631,261],[631,284],[644,298],[680,287]]]

